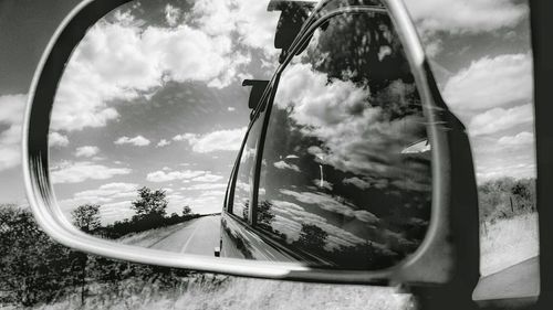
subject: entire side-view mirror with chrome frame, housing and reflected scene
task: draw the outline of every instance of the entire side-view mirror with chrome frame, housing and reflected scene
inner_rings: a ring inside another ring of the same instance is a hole
[[[80,42],[106,42],[119,28],[145,26],[121,12],[92,26],[125,2],[86,0],[75,8],[33,78],[23,173],[33,213],[50,236],[136,263],[272,279],[405,284],[421,291],[439,287],[438,299],[455,295],[471,302],[480,256],[470,146],[440,97],[400,0],[323,0],[309,17],[284,15],[289,26],[281,25],[275,43],[290,53],[281,65],[269,58],[276,67],[270,82],[241,85],[238,76],[253,76],[268,61],[243,64],[249,57],[274,53],[236,56],[249,42],[232,41],[243,34],[237,28],[221,31],[213,43],[236,50],[206,57],[213,50],[201,47],[211,47],[206,42],[216,32],[198,28],[209,20],[199,11],[184,12],[200,19],[182,19],[186,26],[125,32],[148,47],[146,68],[125,63],[140,57],[125,56],[118,43],[113,51],[81,51]],[[109,35],[86,40],[88,30],[101,35],[102,26]],[[94,53],[104,53],[97,67],[72,65]],[[121,62],[119,75],[102,75],[112,58]],[[239,72],[244,67],[250,72]],[[90,68],[98,70],[94,79],[85,74]],[[91,83],[101,87],[92,92]],[[249,98],[238,97],[242,86],[252,87]],[[247,127],[225,114],[234,111],[225,104],[237,100],[253,109]],[[79,118],[83,110],[93,117]],[[271,128],[282,128],[281,139],[267,133]],[[49,137],[60,132],[84,146],[56,149]],[[283,172],[289,174],[267,181]]]

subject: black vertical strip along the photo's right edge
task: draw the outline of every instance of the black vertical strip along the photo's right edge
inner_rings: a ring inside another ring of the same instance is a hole
[[[553,309],[553,1],[530,0],[534,61],[536,209],[540,226],[540,297],[533,309]]]

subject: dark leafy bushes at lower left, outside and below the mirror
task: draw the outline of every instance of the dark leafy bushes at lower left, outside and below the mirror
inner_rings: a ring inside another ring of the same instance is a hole
[[[113,260],[72,250],[53,242],[28,210],[0,205],[0,303],[32,306],[104,287],[115,293],[140,289],[146,284],[174,288],[188,281],[190,272]],[[125,285],[122,285],[125,282]],[[131,284],[131,285],[129,285]],[[139,285],[142,284],[142,285]]]

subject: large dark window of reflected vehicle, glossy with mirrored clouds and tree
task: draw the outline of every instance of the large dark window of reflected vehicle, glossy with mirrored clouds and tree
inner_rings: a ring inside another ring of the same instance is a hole
[[[332,18],[282,72],[258,201],[258,227],[316,264],[377,269],[419,246],[430,145],[388,18]]]

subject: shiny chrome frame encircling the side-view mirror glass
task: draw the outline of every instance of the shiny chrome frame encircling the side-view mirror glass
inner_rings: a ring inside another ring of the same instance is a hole
[[[460,126],[451,129],[444,126],[448,124],[446,119],[449,113],[431,77],[419,38],[401,0],[383,0],[383,2],[404,44],[424,101],[425,114],[428,115],[429,122],[436,126],[430,126],[429,130],[432,145],[434,186],[431,221],[422,244],[399,265],[377,271],[335,270],[313,268],[300,263],[182,255],[115,244],[91,237],[75,228],[62,214],[50,182],[48,133],[53,101],[65,64],[87,29],[111,10],[128,1],[85,0],[79,4],[55,31],[34,73],[23,125],[22,165],[28,200],[33,214],[42,229],[52,238],[75,249],[115,259],[247,277],[376,285],[445,284],[455,277],[456,248],[450,238],[453,178],[451,178],[451,142],[448,132],[463,128]],[[322,0],[317,4],[315,12],[320,13],[319,18],[336,11],[331,8],[332,6],[326,6],[332,2],[336,0]],[[369,10],[369,7],[365,10]],[[373,10],[383,11],[383,8],[373,7]]]

